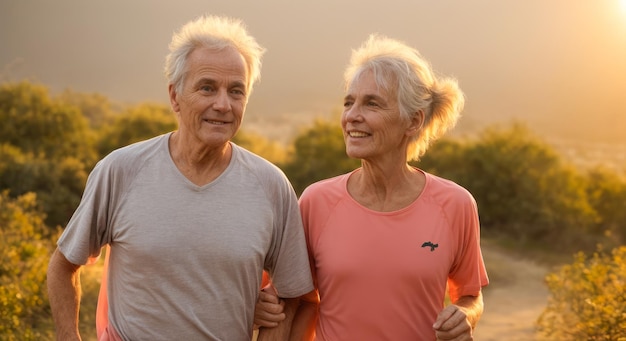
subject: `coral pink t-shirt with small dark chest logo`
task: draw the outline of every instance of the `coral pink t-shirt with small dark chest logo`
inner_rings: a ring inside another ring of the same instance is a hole
[[[300,198],[320,299],[317,340],[435,340],[446,286],[454,302],[488,284],[474,198],[424,173],[413,203],[377,212],[348,194],[351,174]]]

